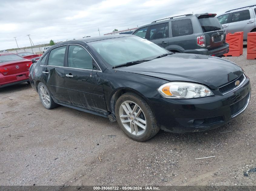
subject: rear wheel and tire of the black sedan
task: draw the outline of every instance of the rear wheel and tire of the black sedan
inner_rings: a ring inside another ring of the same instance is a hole
[[[39,99],[41,100],[43,106],[46,109],[51,110],[55,107],[58,107],[58,104],[53,101],[48,88],[42,82],[39,82],[38,84],[38,95]]]

